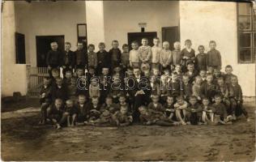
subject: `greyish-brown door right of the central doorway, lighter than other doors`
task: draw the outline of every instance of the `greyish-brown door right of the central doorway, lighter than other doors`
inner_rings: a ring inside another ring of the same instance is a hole
[[[163,27],[162,28],[162,41],[169,41],[170,49],[173,50],[173,43],[180,41],[179,27]]]

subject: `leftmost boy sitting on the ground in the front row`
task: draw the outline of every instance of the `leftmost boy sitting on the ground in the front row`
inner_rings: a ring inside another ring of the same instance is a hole
[[[48,109],[49,119],[56,126],[57,129],[62,127],[62,124],[66,122],[67,114],[65,114],[65,109],[63,106],[62,99],[54,100],[54,104],[52,104]]]

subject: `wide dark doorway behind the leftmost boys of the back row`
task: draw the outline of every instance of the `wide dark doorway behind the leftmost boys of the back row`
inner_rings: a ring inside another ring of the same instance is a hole
[[[64,50],[64,36],[36,36],[36,66],[47,67],[46,55],[51,49],[50,43],[57,41],[58,49]]]

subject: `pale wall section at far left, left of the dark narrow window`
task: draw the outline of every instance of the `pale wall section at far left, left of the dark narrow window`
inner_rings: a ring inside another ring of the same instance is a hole
[[[15,64],[15,12],[14,2],[2,6],[2,97],[13,92],[27,93],[26,65]]]

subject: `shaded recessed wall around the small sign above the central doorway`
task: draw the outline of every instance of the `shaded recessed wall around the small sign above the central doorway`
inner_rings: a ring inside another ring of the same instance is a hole
[[[112,40],[120,46],[127,43],[128,32],[140,32],[139,23],[147,23],[145,32],[157,32],[162,39],[161,28],[178,26],[179,2],[177,1],[105,1],[104,23],[107,49]]]

